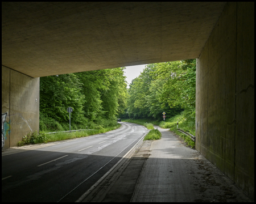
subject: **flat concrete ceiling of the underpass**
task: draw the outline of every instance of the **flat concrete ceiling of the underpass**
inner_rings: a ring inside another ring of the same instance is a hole
[[[2,2],[2,65],[32,77],[199,57],[226,2]]]

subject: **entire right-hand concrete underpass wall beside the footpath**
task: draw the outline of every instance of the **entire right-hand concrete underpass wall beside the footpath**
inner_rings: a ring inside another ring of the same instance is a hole
[[[254,198],[254,2],[227,3],[196,77],[196,150]]]

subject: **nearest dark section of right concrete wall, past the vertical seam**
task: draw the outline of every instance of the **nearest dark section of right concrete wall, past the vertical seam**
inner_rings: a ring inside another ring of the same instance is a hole
[[[254,3],[237,3],[234,181],[254,197]]]

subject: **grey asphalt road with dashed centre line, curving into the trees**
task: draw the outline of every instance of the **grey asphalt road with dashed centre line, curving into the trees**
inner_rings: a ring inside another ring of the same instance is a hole
[[[146,134],[141,125],[2,152],[2,202],[75,202]]]

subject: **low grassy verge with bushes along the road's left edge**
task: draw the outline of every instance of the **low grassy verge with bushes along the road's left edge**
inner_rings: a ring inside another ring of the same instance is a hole
[[[55,133],[55,134],[46,134],[46,133],[30,133],[22,138],[22,141],[19,141],[17,146],[24,145],[33,145],[38,143],[47,143],[47,142],[55,142],[55,141],[63,141],[66,139],[74,139],[80,137],[87,137],[89,135],[106,133],[107,131],[115,130],[119,128],[121,125],[118,124],[116,126],[111,126],[108,128],[101,128],[98,130],[84,130],[84,131],[76,131],[72,133]]]

